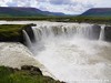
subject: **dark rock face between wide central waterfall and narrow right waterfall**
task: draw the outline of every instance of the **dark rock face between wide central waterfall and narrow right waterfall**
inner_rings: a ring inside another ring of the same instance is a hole
[[[98,24],[92,25],[93,38],[95,40],[98,40],[100,37],[100,30],[101,30],[100,25],[98,25]]]

